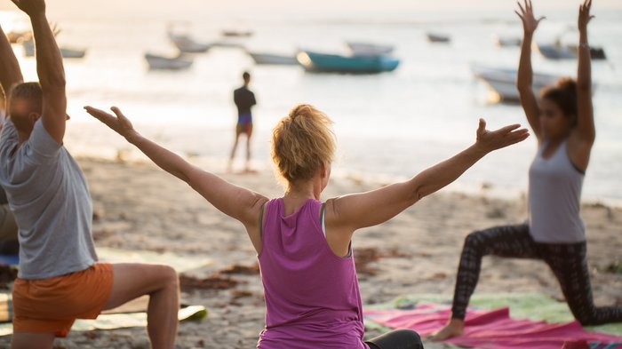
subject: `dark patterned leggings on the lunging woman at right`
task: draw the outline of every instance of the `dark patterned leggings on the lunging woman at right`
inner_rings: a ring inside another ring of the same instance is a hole
[[[482,257],[532,258],[551,268],[574,317],[584,326],[622,321],[622,306],[596,307],[587,270],[586,242],[538,243],[528,225],[498,226],[468,234],[460,257],[452,318],[464,319],[477,286]]]

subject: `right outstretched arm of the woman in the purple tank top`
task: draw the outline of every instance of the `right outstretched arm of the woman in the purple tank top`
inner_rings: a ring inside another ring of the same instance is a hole
[[[375,226],[395,217],[421,198],[449,185],[484,155],[527,139],[528,131],[518,130],[519,127],[511,125],[498,131],[486,131],[486,123],[480,120],[474,146],[451,159],[422,171],[408,181],[326,202],[327,229],[335,228],[349,241],[348,234],[351,235],[356,229]]]

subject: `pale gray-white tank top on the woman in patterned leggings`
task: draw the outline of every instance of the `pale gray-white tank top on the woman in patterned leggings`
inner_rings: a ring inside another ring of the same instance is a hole
[[[536,242],[585,242],[580,217],[585,174],[570,162],[565,141],[547,159],[542,157],[546,145],[538,149],[529,171],[530,234]]]

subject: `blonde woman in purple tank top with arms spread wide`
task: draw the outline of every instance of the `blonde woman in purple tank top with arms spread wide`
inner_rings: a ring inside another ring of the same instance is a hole
[[[285,193],[268,200],[140,136],[118,108],[112,109],[116,116],[86,109],[246,227],[258,253],[266,299],[261,349],[422,348],[417,333],[407,329],[363,341],[352,235],[360,228],[386,222],[447,186],[490,151],[529,136],[519,125],[487,131],[480,120],[477,141],[459,155],[401,183],[321,202],[335,153],[331,121],[315,107],[299,105],[273,132],[272,158]]]

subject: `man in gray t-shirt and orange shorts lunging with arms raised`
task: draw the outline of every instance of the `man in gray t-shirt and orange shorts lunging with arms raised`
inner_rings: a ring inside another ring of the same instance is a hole
[[[13,0],[28,14],[40,83],[23,83],[0,28],[0,84],[9,95],[0,134],[0,185],[19,226],[20,266],[13,284],[12,348],[52,348],[76,319],[149,295],[154,348],[172,348],[179,285],[170,266],[99,263],[84,174],[63,146],[65,73],[44,0]]]

